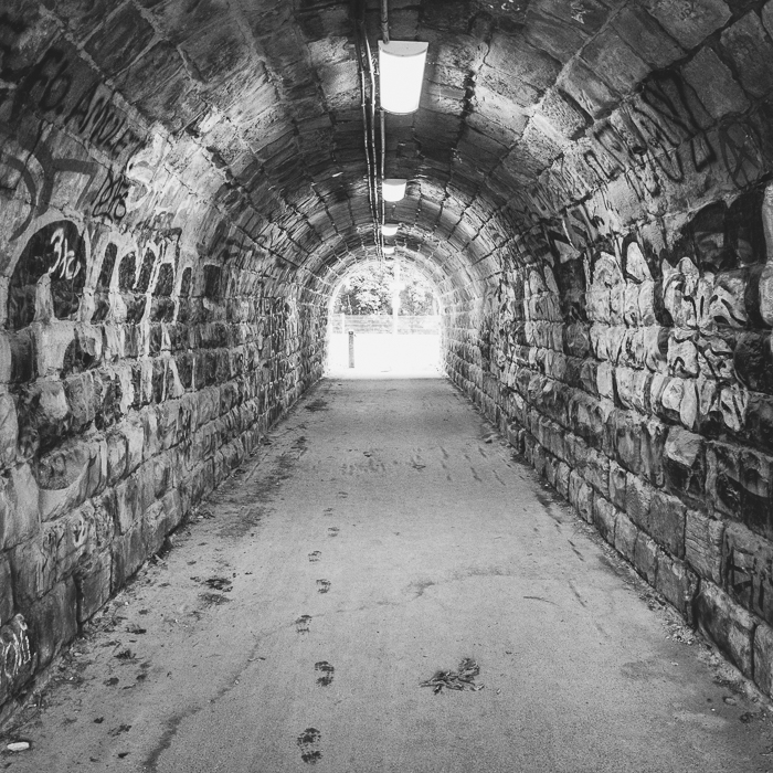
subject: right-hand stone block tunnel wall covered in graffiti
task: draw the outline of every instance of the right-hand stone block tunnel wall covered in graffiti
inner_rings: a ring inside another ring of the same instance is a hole
[[[444,335],[453,380],[769,695],[772,46],[752,13],[596,121]]]

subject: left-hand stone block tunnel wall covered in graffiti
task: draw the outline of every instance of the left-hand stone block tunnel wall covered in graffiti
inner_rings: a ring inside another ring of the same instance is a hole
[[[47,42],[0,88],[0,717],[325,356],[216,167]]]

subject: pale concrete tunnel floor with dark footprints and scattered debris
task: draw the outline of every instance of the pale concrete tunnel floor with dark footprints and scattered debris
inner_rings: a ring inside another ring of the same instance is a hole
[[[767,709],[447,381],[328,379],[272,438],[74,645],[0,767],[773,767]],[[420,687],[464,657],[483,690]]]

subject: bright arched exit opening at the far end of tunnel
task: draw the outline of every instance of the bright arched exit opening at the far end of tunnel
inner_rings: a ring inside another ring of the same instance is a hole
[[[404,262],[353,266],[330,299],[326,374],[438,378],[441,303],[434,284]]]

